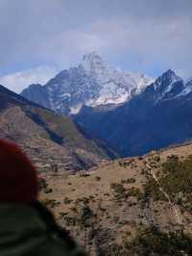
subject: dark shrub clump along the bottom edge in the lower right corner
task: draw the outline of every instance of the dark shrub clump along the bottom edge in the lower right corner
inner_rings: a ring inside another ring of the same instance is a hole
[[[142,228],[132,242],[125,242],[129,255],[192,255],[192,239],[182,231],[164,233],[157,227]]]

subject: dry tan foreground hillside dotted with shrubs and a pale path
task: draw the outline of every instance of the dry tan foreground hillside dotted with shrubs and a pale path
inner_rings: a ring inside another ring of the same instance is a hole
[[[41,173],[40,198],[87,255],[192,255],[192,144]]]

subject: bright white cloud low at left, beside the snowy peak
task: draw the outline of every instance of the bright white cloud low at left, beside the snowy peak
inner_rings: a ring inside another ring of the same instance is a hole
[[[37,66],[21,72],[7,74],[0,77],[0,84],[17,93],[31,84],[45,84],[50,78],[56,75],[57,70],[50,66]]]

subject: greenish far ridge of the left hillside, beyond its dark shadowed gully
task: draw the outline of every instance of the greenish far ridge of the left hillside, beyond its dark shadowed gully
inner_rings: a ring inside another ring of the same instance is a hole
[[[115,153],[109,148],[102,148],[96,141],[89,138],[86,139],[84,133],[80,131],[68,116],[60,116],[54,112],[40,108],[30,108],[26,113],[47,130],[50,134],[50,139],[56,140],[61,145],[68,144],[73,147],[81,147],[106,159],[108,159],[108,152],[110,152],[111,156],[115,157]]]

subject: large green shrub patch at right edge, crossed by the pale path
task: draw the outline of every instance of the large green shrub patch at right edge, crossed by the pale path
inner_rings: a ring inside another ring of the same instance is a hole
[[[170,155],[161,168],[162,174],[158,173],[160,187],[169,194],[171,200],[192,213],[192,158],[187,157],[180,161],[178,156]],[[167,200],[151,176],[148,177],[144,191],[145,197],[152,196],[155,200]]]

